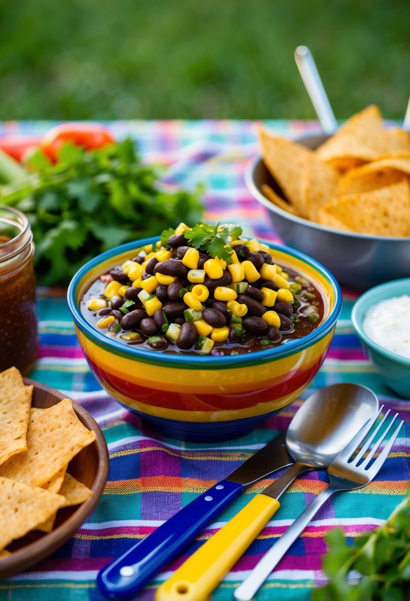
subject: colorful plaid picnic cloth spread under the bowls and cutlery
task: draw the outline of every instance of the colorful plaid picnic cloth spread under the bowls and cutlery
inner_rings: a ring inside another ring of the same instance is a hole
[[[275,132],[301,136],[319,132],[315,122],[270,121]],[[5,123],[3,133],[43,133],[50,123]],[[135,136],[144,160],[170,165],[167,182],[194,186],[203,182],[206,218],[239,222],[245,234],[277,240],[265,208],[253,200],[243,182],[249,159],[258,153],[250,121],[125,121],[110,124],[118,138]],[[243,438],[218,444],[194,444],[164,438],[121,408],[102,391],[92,376],[76,339],[65,291],[38,290],[41,346],[31,377],[60,389],[82,404],[103,430],[110,454],[105,492],[93,514],[59,551],[30,570],[0,582],[0,599],[7,601],[99,600],[97,571],[150,534],[164,520],[221,480],[279,432],[286,430],[295,411],[315,389],[337,382],[356,382],[372,388],[381,402],[399,411],[406,423],[378,477],[364,489],[335,495],[271,574],[257,601],[310,599],[323,584],[323,535],[341,526],[357,537],[381,524],[401,501],[410,477],[410,403],[400,401],[382,385],[356,338],[350,311],[357,294],[344,291],[343,310],[325,363],[302,397]],[[275,475],[276,477],[276,475]],[[171,575],[213,532],[242,508],[272,479],[250,487],[218,522],[211,523],[182,557],[158,574],[136,599],[152,600],[159,584]],[[233,590],[263,553],[286,530],[304,507],[326,486],[324,472],[299,478],[281,499],[280,510],[245,555],[225,576],[213,601],[233,599]]]

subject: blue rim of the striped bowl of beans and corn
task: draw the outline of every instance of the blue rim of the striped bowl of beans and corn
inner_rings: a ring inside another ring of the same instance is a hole
[[[314,267],[314,269],[316,269],[323,277],[328,279],[328,281],[332,285],[335,296],[334,307],[332,308],[331,313],[329,314],[327,319],[323,323],[321,323],[318,328],[314,329],[314,331],[310,334],[307,334],[302,338],[293,339],[291,343],[283,344],[281,346],[275,347],[274,349],[264,350],[263,352],[245,353],[243,355],[233,356],[201,356],[187,355],[185,353],[171,355],[160,352],[155,353],[150,350],[139,349],[136,347],[130,348],[125,344],[119,343],[118,341],[112,338],[107,338],[105,335],[93,328],[93,326],[86,322],[84,317],[82,317],[81,311],[79,310],[75,299],[76,289],[78,287],[79,282],[82,278],[84,278],[84,276],[90,269],[93,269],[99,263],[109,260],[110,258],[115,257],[115,255],[119,255],[123,252],[130,251],[133,248],[138,248],[157,242],[157,240],[158,236],[154,236],[142,240],[127,242],[120,246],[115,246],[114,248],[111,248],[108,251],[97,255],[97,257],[92,258],[90,261],[87,261],[87,263],[85,263],[78,270],[78,272],[75,273],[75,275],[72,278],[72,281],[69,284],[69,288],[67,290],[67,303],[69,305],[69,311],[71,313],[74,323],[82,332],[84,332],[87,338],[89,338],[94,343],[97,343],[99,346],[103,347],[106,350],[115,350],[117,355],[125,356],[130,359],[138,359],[142,362],[161,365],[162,367],[201,369],[214,369],[216,367],[245,367],[248,364],[267,363],[271,362],[274,359],[284,358],[286,356],[300,352],[301,350],[312,346],[314,343],[325,337],[325,335],[328,334],[329,331],[331,331],[331,329],[337,322],[342,305],[341,290],[337,280],[328,271],[328,269],[326,269],[326,267],[324,267],[318,261],[315,261],[313,258],[308,257],[308,255],[305,255],[303,252],[295,251],[292,248],[289,248],[288,246],[278,245],[270,241],[264,240],[263,242],[268,244],[269,248],[271,248],[272,250],[286,252],[292,257],[298,258],[299,260],[302,260],[308,265]]]

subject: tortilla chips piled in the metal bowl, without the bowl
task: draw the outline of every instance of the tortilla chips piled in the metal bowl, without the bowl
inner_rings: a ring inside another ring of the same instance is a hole
[[[337,230],[410,236],[410,135],[385,129],[376,106],[353,115],[317,150],[260,131],[280,209]]]

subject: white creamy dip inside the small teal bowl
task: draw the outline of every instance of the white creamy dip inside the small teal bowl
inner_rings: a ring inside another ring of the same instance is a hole
[[[373,305],[363,329],[375,343],[410,359],[410,296],[403,294]]]

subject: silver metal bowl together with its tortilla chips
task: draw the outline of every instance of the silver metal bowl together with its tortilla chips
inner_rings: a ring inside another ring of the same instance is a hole
[[[410,136],[370,106],[333,136],[260,132],[246,185],[286,245],[340,284],[367,290],[410,273]]]

